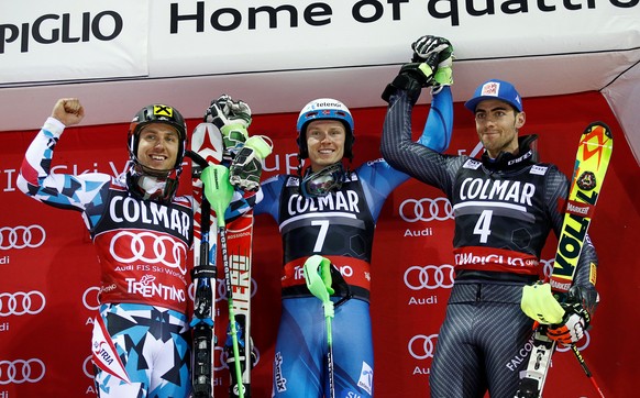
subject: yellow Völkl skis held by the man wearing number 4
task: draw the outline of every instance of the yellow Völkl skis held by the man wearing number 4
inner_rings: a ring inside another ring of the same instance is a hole
[[[584,130],[577,148],[550,281],[551,290],[560,303],[567,300],[613,148],[614,136],[605,123],[594,122]],[[555,351],[555,341],[549,339],[544,332],[544,327],[538,327],[533,333],[533,349],[527,368],[521,372],[516,398],[537,398],[542,395],[551,355]],[[571,350],[599,396],[604,397],[577,347],[572,345]]]

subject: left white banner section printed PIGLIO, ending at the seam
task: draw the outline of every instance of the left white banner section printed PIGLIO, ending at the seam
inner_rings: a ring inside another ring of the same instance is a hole
[[[5,0],[0,87],[143,77],[146,1]]]

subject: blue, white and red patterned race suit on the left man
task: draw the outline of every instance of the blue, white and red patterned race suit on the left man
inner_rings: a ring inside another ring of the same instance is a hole
[[[125,175],[51,173],[64,124],[49,118],[29,146],[18,186],[81,212],[100,263],[91,351],[100,397],[188,397],[187,251],[191,197],[142,200]]]

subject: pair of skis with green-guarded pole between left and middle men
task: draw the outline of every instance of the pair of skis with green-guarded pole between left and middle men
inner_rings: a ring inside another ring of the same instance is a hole
[[[251,255],[253,210],[225,223],[224,213],[233,197],[229,169],[222,165],[224,147],[220,130],[200,123],[191,136],[191,187],[194,213],[194,317],[191,382],[195,398],[213,397],[216,352],[216,294],[218,247],[224,270],[229,303],[228,339],[224,343],[231,374],[229,396],[251,397],[253,343],[250,335]],[[211,214],[211,210],[216,215]],[[227,232],[232,234],[228,236]],[[218,246],[218,241],[220,245]]]

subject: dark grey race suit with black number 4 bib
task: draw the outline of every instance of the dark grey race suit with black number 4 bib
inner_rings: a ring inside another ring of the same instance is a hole
[[[522,287],[544,279],[540,254],[560,235],[569,181],[537,163],[534,135],[497,159],[442,155],[411,143],[412,103],[390,98],[382,151],[393,167],[440,188],[453,206],[456,276],[433,357],[431,397],[514,397],[533,321],[520,309]],[[574,284],[595,290],[596,253],[587,236]]]

